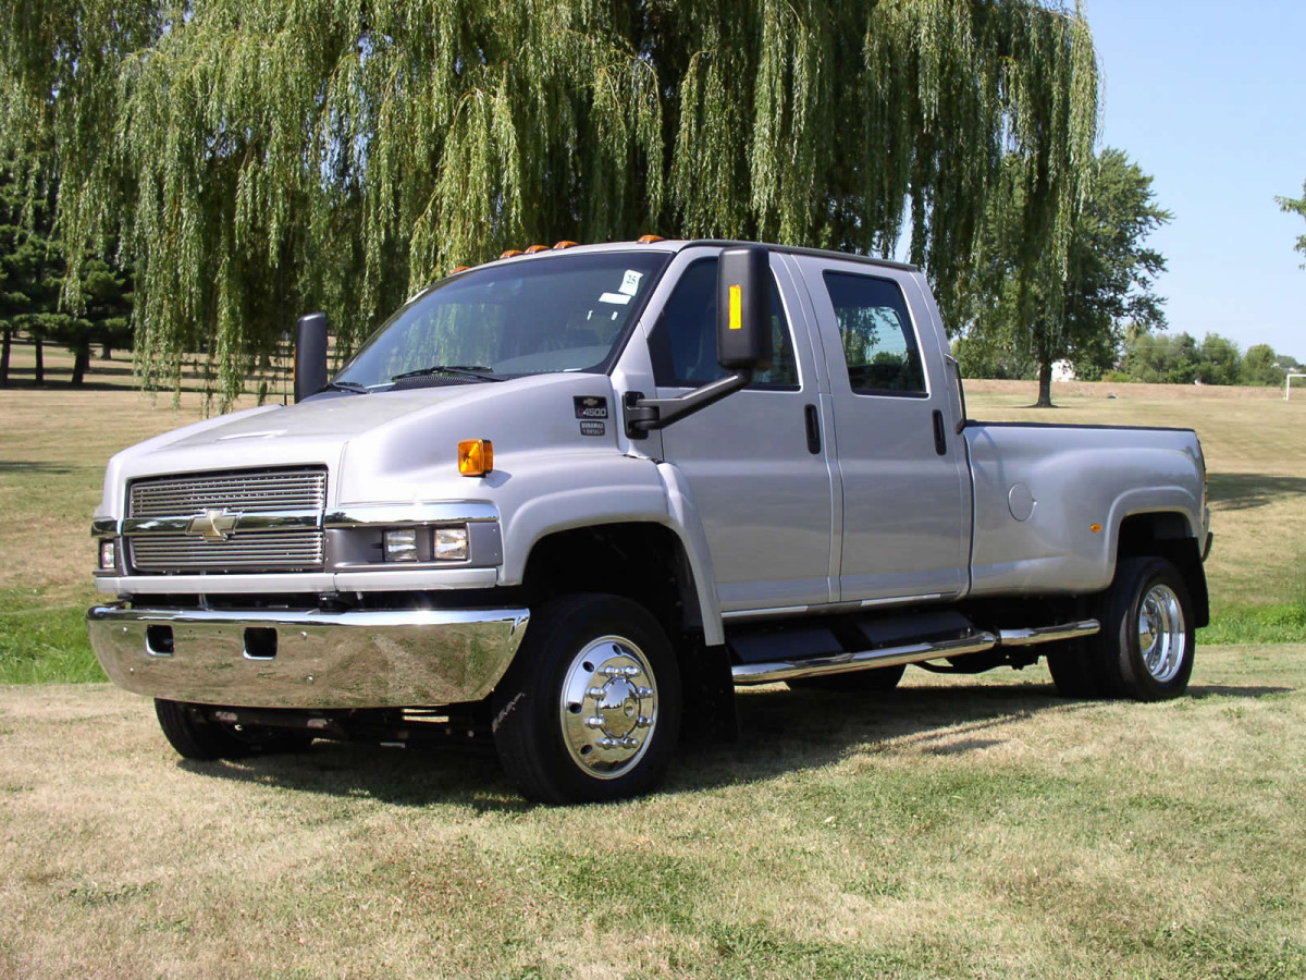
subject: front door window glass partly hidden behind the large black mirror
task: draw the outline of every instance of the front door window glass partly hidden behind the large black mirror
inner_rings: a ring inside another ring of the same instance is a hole
[[[771,370],[759,371],[752,385],[798,389],[798,365],[780,289],[771,280]],[[680,274],[649,337],[653,380],[662,387],[697,387],[722,378],[717,363],[717,260],[699,259]]]

